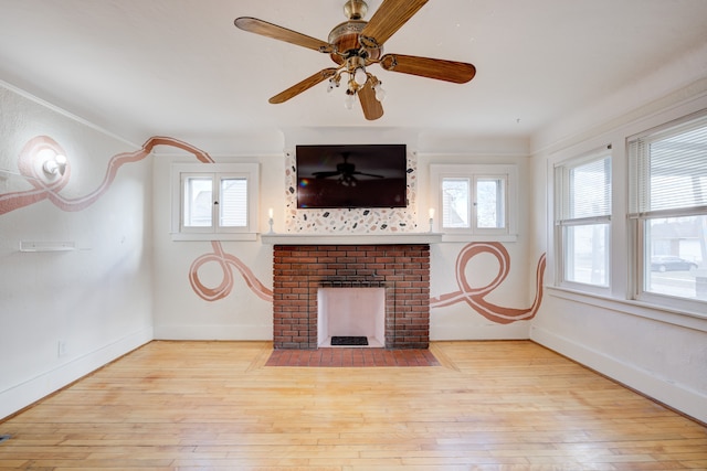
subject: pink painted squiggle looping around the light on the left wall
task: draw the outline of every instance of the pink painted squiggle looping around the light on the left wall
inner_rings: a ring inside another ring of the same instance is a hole
[[[32,185],[32,189],[0,194],[0,215],[39,203],[42,200],[51,201],[63,211],[82,211],[95,203],[108,188],[110,188],[122,165],[145,159],[157,146],[176,147],[193,153],[201,162],[213,163],[213,159],[207,152],[187,142],[173,138],[155,136],[149,138],[141,149],[135,152],[118,153],[110,158],[103,182],[96,190],[84,196],[66,199],[60,194],[60,191],[68,183],[68,179],[71,178],[71,156],[66,156],[62,147],[49,136],[36,136],[24,144],[18,158],[20,173]],[[55,181],[48,181],[46,178],[40,173],[43,162],[39,160],[41,159],[41,152],[46,149],[54,151],[54,153],[63,154],[67,159],[66,171]]]

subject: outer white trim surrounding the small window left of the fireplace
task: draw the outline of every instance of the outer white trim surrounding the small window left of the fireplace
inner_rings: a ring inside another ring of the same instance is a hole
[[[182,175],[240,176],[247,179],[247,224],[238,228],[182,229]],[[257,239],[258,163],[173,163],[171,165],[171,238],[172,240],[255,240]]]

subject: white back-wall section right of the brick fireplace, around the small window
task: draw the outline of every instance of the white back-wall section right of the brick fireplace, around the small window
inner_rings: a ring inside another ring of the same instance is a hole
[[[443,142],[439,142],[443,146]],[[449,142],[446,143],[449,146]],[[525,142],[508,140],[503,143],[494,142],[464,142],[465,152],[457,149],[453,153],[425,152],[418,156],[421,169],[429,170],[435,163],[466,163],[466,164],[513,164],[518,168],[518,201],[517,205],[518,234],[514,237],[504,237],[503,245],[510,256],[510,269],[507,278],[496,289],[485,297],[485,300],[495,304],[497,311],[506,309],[526,309],[532,303],[535,287],[527,280],[535,279],[535,270],[538,259],[535,254],[528,254],[528,227],[530,224],[530,201],[523,195],[530,190],[529,158],[526,154]],[[490,150],[489,150],[490,149]],[[420,186],[426,189],[430,184],[428,172],[421,172]],[[421,191],[420,207],[425,214],[425,207],[434,207],[432,195],[426,190]],[[457,279],[456,263],[463,248],[472,242],[487,242],[478,236],[464,242],[443,242],[433,244],[431,255],[431,286],[432,298],[445,296],[455,291],[463,291],[463,280]],[[539,257],[539,255],[538,255]],[[481,254],[468,260],[464,267],[464,278],[468,287],[481,289],[496,278],[503,267],[487,254]],[[430,339],[435,341],[446,340],[502,340],[502,339],[528,339],[530,321],[520,320],[508,324],[502,324],[482,315],[474,307],[473,301],[464,300],[451,306],[432,307],[430,312]]]

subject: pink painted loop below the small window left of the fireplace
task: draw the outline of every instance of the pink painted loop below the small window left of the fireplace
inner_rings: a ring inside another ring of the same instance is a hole
[[[233,271],[231,268],[235,268],[245,280],[247,287],[255,295],[265,301],[273,300],[273,291],[265,288],[265,286],[255,277],[255,275],[253,275],[253,271],[251,271],[243,261],[233,255],[226,254],[223,250],[221,243],[218,240],[212,240],[211,246],[213,247],[213,253],[201,255],[189,268],[189,282],[191,283],[194,292],[201,299],[207,301],[217,301],[229,296],[233,289]],[[221,285],[215,288],[207,287],[199,279],[199,268],[208,263],[218,264],[223,272],[223,280],[221,281]]]

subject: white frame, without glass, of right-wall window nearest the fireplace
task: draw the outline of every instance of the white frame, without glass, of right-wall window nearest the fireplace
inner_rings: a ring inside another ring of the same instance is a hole
[[[582,217],[570,216],[571,200],[576,196],[570,189],[570,172],[577,168],[592,162],[599,162],[609,159],[609,202],[608,213],[605,215],[592,215]],[[611,256],[612,247],[612,213],[613,213],[613,151],[611,146],[594,149],[589,152],[563,159],[555,163],[553,172],[553,201],[552,211],[553,240],[555,240],[555,285],[558,287],[569,288],[578,291],[587,291],[608,296],[612,289],[612,267]],[[573,227],[584,226],[606,226],[604,232],[604,272],[605,283],[582,282],[569,279],[567,276],[568,268],[568,232]]]

